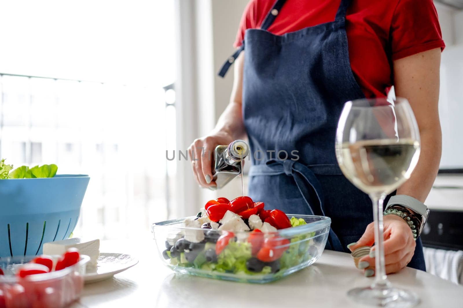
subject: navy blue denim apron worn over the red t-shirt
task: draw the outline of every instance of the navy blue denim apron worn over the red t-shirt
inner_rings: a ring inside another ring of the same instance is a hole
[[[267,209],[331,217],[327,249],[350,252],[373,220],[369,196],[348,181],[335,156],[335,133],[344,102],[364,98],[350,68],[341,0],[335,20],[276,36],[267,28],[285,0],[277,0],[261,29],[248,29],[243,119],[252,165],[249,195]],[[387,201],[387,200],[386,200]],[[386,203],[385,203],[386,204]],[[421,241],[410,267],[425,270]]]

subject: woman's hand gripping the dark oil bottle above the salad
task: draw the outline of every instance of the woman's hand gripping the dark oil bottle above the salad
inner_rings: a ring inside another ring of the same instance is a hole
[[[188,147],[188,155],[191,158],[191,167],[198,184],[215,190],[217,185],[212,181],[212,162],[214,150],[217,145],[229,145],[233,137],[224,131],[209,134],[195,139]]]

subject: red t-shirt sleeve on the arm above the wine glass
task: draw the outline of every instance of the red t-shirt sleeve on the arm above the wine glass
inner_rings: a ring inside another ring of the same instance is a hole
[[[445,47],[432,0],[399,0],[390,33],[392,60]]]

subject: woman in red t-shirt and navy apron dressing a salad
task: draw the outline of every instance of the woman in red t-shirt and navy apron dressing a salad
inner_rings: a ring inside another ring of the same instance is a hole
[[[408,201],[422,205],[441,153],[444,42],[432,0],[252,0],[235,47],[219,73],[235,62],[230,104],[213,132],[190,146],[190,155],[200,157],[203,148],[207,153],[247,134],[251,153],[265,153],[263,160],[252,157],[252,199],[331,217],[329,249],[373,245],[371,201],[338,169],[335,130],[344,102],[385,97],[394,85],[396,95],[410,102],[421,137],[418,165],[396,192],[406,201],[397,205],[412,213]],[[300,159],[279,161],[280,150],[297,150]],[[192,165],[198,183],[214,189],[208,157]],[[425,270],[421,242],[414,241],[406,221],[386,215],[384,229],[386,272],[407,264]],[[361,261],[365,276],[373,276],[374,258]]]

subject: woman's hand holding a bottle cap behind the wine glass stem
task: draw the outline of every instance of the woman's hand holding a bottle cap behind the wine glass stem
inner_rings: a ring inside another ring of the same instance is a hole
[[[405,220],[397,215],[383,217],[384,224],[384,263],[386,274],[399,272],[412,260],[415,252],[415,240],[412,229]],[[375,242],[374,224],[370,223],[363,236],[355,245],[349,246],[350,251],[361,246],[371,246]],[[370,255],[360,259],[358,268],[363,269],[366,277],[375,274],[375,246],[371,248]]]

